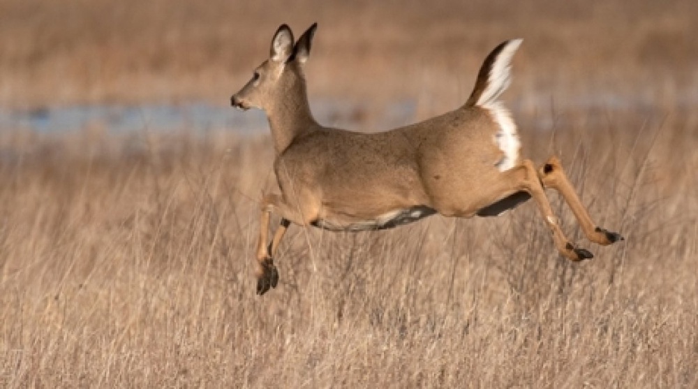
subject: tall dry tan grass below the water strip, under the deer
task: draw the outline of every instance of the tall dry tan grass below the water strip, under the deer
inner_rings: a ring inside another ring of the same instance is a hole
[[[584,241],[554,193],[593,260],[560,258],[532,204],[292,228],[262,298],[266,137],[2,134],[0,386],[697,386],[698,117],[518,116],[528,154],[560,154],[625,242]]]

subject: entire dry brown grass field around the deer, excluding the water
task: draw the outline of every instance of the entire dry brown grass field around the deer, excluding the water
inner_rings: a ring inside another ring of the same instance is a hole
[[[416,100],[415,120],[456,107],[523,36],[505,100],[526,154],[560,155],[626,240],[586,242],[554,193],[593,260],[560,258],[532,203],[292,228],[260,298],[266,133],[6,131],[0,387],[698,387],[695,2],[141,3],[0,0],[0,106],[226,103],[278,24],[318,20],[311,99],[369,101],[368,130],[385,101]]]

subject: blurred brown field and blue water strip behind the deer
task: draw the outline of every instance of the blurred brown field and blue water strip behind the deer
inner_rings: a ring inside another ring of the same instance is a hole
[[[454,108],[489,50],[517,37],[505,96],[515,111],[687,110],[695,15],[688,0],[0,0],[0,129],[263,129],[262,115],[226,108],[282,22],[296,36],[320,26],[307,73],[325,124],[370,129]]]

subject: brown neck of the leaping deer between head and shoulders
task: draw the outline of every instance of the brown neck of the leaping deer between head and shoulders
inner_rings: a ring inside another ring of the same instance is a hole
[[[281,154],[295,138],[313,131],[318,126],[310,112],[304,85],[299,85],[294,92],[285,95],[267,112],[276,154]]]

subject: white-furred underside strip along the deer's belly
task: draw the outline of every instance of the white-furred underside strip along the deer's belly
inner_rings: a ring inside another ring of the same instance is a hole
[[[385,230],[424,219],[426,216],[431,216],[435,213],[436,211],[429,207],[418,205],[416,207],[392,210],[370,219],[328,214],[322,219],[316,219],[311,224],[315,227],[332,231]]]

